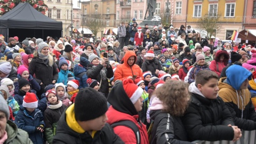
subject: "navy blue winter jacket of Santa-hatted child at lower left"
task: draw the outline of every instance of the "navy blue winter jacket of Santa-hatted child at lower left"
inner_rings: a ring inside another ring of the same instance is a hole
[[[39,125],[44,125],[45,127],[43,119],[44,117],[39,109],[36,108],[32,113],[30,113],[21,106],[17,116],[15,117],[15,124],[19,129],[28,132],[29,139],[33,141],[33,143],[43,144],[43,133],[36,131],[36,127]]]

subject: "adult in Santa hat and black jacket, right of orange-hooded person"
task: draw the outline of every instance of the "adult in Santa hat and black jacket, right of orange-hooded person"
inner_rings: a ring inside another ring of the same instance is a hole
[[[142,72],[150,71],[152,75],[157,76],[159,70],[163,70],[161,63],[155,58],[153,51],[148,51],[145,55],[146,60],[142,63]]]

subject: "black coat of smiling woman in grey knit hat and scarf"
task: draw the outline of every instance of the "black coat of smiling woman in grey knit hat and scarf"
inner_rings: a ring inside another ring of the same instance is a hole
[[[29,74],[36,75],[36,78],[41,80],[44,86],[52,84],[52,81],[57,82],[59,74],[55,63],[50,67],[49,63],[45,63],[39,57],[35,57],[29,63]]]

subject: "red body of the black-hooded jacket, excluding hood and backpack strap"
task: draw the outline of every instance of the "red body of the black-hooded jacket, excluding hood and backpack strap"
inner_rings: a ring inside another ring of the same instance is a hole
[[[136,119],[139,118],[139,115],[131,116],[129,114],[125,114],[125,113],[115,110],[112,106],[109,107],[106,114],[108,116],[107,123],[109,123],[110,125],[115,122],[124,121],[124,120],[129,120],[129,121],[134,122],[138,126],[139,131],[140,131],[140,138],[141,138],[140,143],[141,144],[149,143],[146,125],[141,122],[142,125],[140,126],[138,124],[138,122],[136,121]],[[132,129],[130,129],[129,127],[116,126],[116,127],[114,127],[114,132],[127,144],[136,144],[137,143],[135,134],[132,131]]]

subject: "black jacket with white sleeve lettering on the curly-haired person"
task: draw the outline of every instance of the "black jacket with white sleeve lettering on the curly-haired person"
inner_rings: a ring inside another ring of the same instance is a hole
[[[187,133],[180,117],[172,116],[162,112],[162,110],[150,110],[150,118],[154,120],[153,129],[151,131],[152,139],[150,144],[191,143],[187,141]]]

